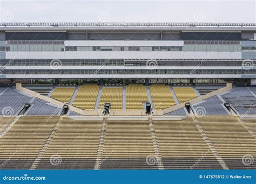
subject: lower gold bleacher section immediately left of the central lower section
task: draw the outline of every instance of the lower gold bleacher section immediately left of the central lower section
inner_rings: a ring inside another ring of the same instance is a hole
[[[103,121],[63,118],[37,169],[93,169],[102,126]],[[51,164],[52,155],[59,157],[58,165]]]

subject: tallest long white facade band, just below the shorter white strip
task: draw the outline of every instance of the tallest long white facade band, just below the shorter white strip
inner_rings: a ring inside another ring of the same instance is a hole
[[[6,59],[241,59],[241,52],[6,52]]]

